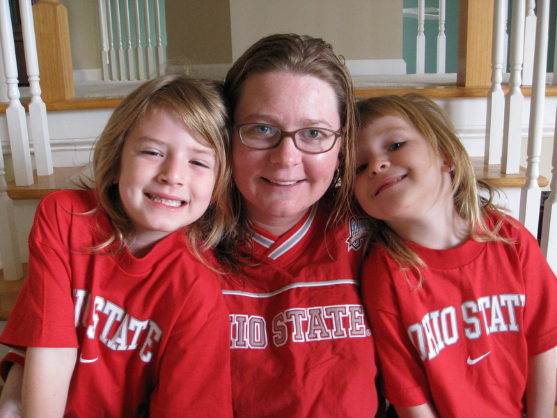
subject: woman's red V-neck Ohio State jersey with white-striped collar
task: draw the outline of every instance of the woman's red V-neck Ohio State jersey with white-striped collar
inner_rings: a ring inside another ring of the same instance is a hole
[[[237,417],[375,416],[362,222],[325,235],[328,213],[315,205],[281,238],[256,229],[247,278],[223,283]]]

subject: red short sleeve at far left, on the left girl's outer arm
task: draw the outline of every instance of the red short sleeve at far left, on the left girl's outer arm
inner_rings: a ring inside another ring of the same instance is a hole
[[[56,196],[49,194],[37,208],[29,235],[27,279],[0,337],[13,348],[78,347],[70,242],[64,233],[71,215]]]

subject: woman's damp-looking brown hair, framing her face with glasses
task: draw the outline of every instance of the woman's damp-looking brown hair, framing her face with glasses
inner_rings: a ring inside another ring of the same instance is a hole
[[[327,82],[334,90],[340,123],[343,126],[340,146],[340,166],[329,188],[333,208],[330,226],[344,222],[351,213],[350,194],[354,184],[355,153],[355,99],[354,83],[342,56],[320,38],[293,33],[267,36],[251,45],[232,65],[224,82],[224,96],[233,116],[242,95],[242,86],[253,74],[265,72],[290,72],[295,75],[313,75]],[[339,185],[340,184],[340,185]],[[338,187],[336,187],[338,186]],[[235,188],[235,205],[242,208],[240,192]],[[240,226],[249,225],[242,214]],[[248,231],[247,229],[245,231]]]

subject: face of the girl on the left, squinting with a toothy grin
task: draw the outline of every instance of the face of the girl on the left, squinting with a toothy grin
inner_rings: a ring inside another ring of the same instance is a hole
[[[179,116],[166,109],[143,115],[127,133],[116,178],[134,227],[131,245],[154,244],[201,217],[217,169],[212,148]]]

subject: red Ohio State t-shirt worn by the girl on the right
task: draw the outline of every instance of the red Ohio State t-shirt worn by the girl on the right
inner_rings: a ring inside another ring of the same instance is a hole
[[[363,302],[386,398],[433,401],[440,417],[522,417],[528,357],[557,346],[557,279],[517,221],[501,235],[447,250],[410,244],[423,285],[375,246],[363,267]]]

